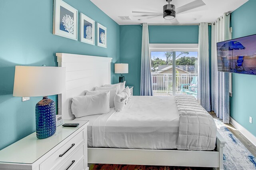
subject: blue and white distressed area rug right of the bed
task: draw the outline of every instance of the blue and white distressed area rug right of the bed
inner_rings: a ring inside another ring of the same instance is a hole
[[[219,120],[214,119],[218,131],[226,140],[224,147],[224,170],[256,170],[256,158]]]

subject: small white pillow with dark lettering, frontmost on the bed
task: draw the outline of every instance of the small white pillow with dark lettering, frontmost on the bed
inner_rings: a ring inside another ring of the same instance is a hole
[[[124,107],[128,104],[128,102],[130,101],[129,94],[131,94],[131,92],[128,87],[128,89],[124,89],[124,91],[115,96],[114,105],[117,112],[122,111],[122,109],[124,109]]]

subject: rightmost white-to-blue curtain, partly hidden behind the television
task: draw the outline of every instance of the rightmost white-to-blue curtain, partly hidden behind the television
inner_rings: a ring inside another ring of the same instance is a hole
[[[229,73],[218,72],[217,42],[229,40],[230,15],[226,13],[212,24],[211,104],[216,116],[229,123]]]

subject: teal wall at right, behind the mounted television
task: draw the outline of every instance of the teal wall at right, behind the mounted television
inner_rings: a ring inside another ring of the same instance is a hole
[[[256,0],[249,0],[232,12],[232,38],[256,34]],[[230,116],[256,136],[256,76],[232,73]],[[252,117],[252,124],[249,123]]]

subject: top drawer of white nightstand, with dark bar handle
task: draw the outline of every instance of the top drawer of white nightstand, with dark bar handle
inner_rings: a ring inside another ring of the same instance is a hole
[[[40,164],[40,170],[51,170],[56,167],[60,162],[66,159],[70,154],[76,150],[76,148],[84,142],[84,132],[83,130],[76,134],[74,138],[70,139],[66,144],[64,144],[60,149],[58,149],[54,154],[52,154],[48,159],[46,159],[42,164]],[[42,169],[41,169],[42,168]]]

